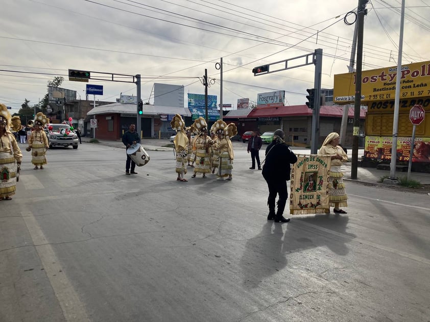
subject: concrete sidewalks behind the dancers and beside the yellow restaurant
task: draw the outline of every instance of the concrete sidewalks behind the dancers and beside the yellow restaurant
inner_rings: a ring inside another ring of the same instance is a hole
[[[82,137],[83,142],[89,142],[92,138],[91,137]],[[118,148],[125,148],[123,142],[121,140],[116,141],[109,141],[109,140],[100,140],[99,144],[107,145],[107,146],[113,146]],[[173,144],[168,139],[144,139],[142,141],[142,145],[144,145],[145,150],[148,151],[172,151],[172,147],[165,147],[165,145]],[[239,150],[245,150],[246,151],[246,145],[242,142],[233,142],[233,147],[237,148]],[[292,147],[295,152],[299,150],[303,150],[303,152],[300,151],[300,153],[306,154],[309,153],[308,149],[301,148],[301,147]],[[351,149],[348,149],[348,152],[350,152]],[[350,154],[348,154],[349,158],[351,157]],[[261,155],[260,155],[261,157]],[[369,183],[369,184],[379,184],[379,185],[385,185],[383,183],[378,182],[383,177],[389,177],[390,176],[390,170],[378,170],[376,168],[363,168],[361,166],[357,167],[357,179],[352,180],[351,179],[351,162],[345,163],[345,165],[342,166],[342,170],[344,171],[345,177],[344,179],[346,181],[355,181],[355,182],[361,182],[361,183]],[[408,172],[399,172],[396,171],[396,177],[402,178],[407,177]],[[429,185],[430,186],[430,174],[423,173],[423,172],[411,172],[411,179],[416,180],[420,182],[423,185]]]

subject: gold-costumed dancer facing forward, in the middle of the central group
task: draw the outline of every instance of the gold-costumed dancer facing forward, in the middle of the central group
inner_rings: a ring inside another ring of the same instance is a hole
[[[191,178],[196,178],[198,173],[206,174],[210,172],[209,146],[213,144],[212,139],[207,135],[207,123],[203,117],[199,117],[194,121],[194,126],[199,131],[199,135],[194,141],[196,147],[196,167],[194,175]]]

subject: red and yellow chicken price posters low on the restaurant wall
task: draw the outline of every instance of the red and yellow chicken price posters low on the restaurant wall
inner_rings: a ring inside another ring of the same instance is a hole
[[[411,137],[398,137],[397,161],[408,161],[411,154]],[[374,160],[391,160],[391,136],[366,136],[364,157]],[[415,138],[412,162],[430,162],[430,138]]]

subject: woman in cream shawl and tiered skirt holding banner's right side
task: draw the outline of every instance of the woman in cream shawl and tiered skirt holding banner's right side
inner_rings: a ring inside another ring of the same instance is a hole
[[[341,165],[342,162],[348,161],[348,157],[343,148],[339,146],[339,134],[336,132],[330,133],[324,140],[318,154],[331,156],[330,177],[328,178],[329,206],[334,207],[333,211],[335,213],[345,214],[347,212],[340,208],[348,206],[348,196],[345,192]]]

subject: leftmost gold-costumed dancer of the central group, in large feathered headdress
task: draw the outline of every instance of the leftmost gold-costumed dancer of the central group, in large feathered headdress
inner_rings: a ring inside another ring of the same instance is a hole
[[[184,175],[186,174],[185,160],[188,155],[188,137],[185,134],[185,122],[181,115],[176,114],[170,122],[170,125],[172,126],[172,129],[177,132],[175,139],[173,140],[176,150],[176,173],[178,174],[178,178],[176,180],[187,182],[188,180],[184,178]]]

